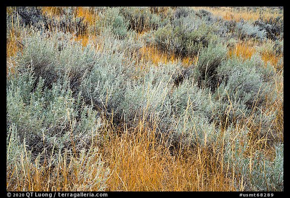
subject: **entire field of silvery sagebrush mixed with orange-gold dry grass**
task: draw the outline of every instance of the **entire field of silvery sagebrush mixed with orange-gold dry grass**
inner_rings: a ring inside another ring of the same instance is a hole
[[[7,7],[7,190],[283,191],[283,7]]]

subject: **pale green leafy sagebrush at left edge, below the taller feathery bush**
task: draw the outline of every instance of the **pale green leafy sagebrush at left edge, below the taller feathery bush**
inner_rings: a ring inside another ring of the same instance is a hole
[[[40,155],[43,162],[64,149],[85,148],[98,138],[98,112],[72,96],[67,79],[48,89],[40,77],[32,92],[33,78],[27,76],[33,73],[20,74],[7,85],[7,121],[18,128],[17,136],[26,140],[33,157]],[[19,90],[19,83],[26,89]]]

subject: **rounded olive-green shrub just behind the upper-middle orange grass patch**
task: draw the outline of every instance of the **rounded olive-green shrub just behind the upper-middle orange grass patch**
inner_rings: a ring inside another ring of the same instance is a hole
[[[154,43],[168,53],[194,56],[200,48],[207,47],[209,41],[218,39],[212,27],[192,12],[187,17],[173,19],[171,23],[160,27],[154,33]]]

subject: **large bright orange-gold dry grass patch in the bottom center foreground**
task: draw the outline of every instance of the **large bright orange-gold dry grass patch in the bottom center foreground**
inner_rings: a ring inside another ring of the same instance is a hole
[[[103,160],[111,170],[107,190],[235,190],[214,148],[183,148],[172,155],[164,139],[156,138],[157,128],[144,125],[140,121],[136,128],[124,128],[121,135],[110,134],[105,141]]]

